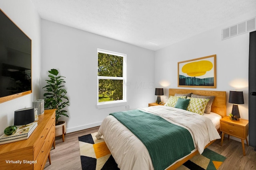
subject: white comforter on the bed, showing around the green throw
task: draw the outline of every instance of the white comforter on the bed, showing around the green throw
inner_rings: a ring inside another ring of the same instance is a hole
[[[197,113],[167,106],[152,106],[140,110],[160,115],[169,122],[188,129],[200,154],[210,141],[220,139],[212,121]],[[101,135],[121,170],[154,169],[143,143],[112,115],[103,120],[96,137],[99,139]]]

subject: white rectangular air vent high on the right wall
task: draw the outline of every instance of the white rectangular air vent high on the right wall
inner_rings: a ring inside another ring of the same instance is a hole
[[[256,30],[256,17],[222,29],[222,40]]]

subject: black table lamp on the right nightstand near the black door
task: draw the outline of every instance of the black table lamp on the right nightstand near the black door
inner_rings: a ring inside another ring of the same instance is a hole
[[[231,118],[233,120],[239,120],[240,113],[239,113],[239,109],[238,109],[238,105],[237,104],[244,104],[243,92],[242,91],[238,91],[238,90],[231,90],[231,91],[229,91],[228,103],[232,103],[233,104],[232,113],[231,113],[233,116],[231,116]]]

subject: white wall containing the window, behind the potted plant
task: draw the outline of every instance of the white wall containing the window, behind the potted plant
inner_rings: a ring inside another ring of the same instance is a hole
[[[56,68],[66,77],[67,132],[100,125],[104,117],[125,106],[98,109],[97,48],[127,55],[127,105],[130,109],[154,102],[154,51],[42,20],[42,85],[48,70]],[[42,90],[41,95],[44,93]]]

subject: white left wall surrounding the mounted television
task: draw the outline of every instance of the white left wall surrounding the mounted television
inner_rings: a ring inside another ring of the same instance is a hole
[[[30,0],[0,1],[0,8],[32,39],[32,94],[0,104],[0,135],[14,123],[14,111],[32,107],[40,97],[41,40],[40,17]]]

